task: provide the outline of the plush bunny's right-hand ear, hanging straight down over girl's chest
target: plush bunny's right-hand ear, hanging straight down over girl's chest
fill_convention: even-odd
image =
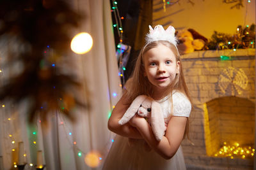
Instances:
[[[162,108],[156,101],[152,101],[151,105],[151,127],[157,141],[161,141],[166,127]]]

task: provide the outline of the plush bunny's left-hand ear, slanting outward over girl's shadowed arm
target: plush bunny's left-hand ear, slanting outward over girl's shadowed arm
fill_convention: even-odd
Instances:
[[[147,96],[140,95],[132,101],[131,106],[125,111],[124,116],[118,121],[118,124],[126,124],[138,111],[140,104],[146,99]]]

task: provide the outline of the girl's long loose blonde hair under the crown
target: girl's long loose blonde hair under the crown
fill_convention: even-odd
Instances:
[[[179,73],[176,75],[173,83],[166,90],[166,96],[169,94],[172,94],[172,90],[179,90],[180,92],[182,92],[188,97],[190,103],[192,104],[191,97],[189,95],[189,90],[186,85],[184,74],[182,71],[182,63],[180,60],[179,51],[177,50],[177,47],[175,45],[173,45],[169,41],[163,41],[163,40],[153,41],[152,43],[148,43],[145,46],[143,46],[143,48],[141,49],[140,54],[138,55],[138,59],[136,60],[136,64],[135,64],[132,76],[131,78],[129,78],[129,80],[127,80],[127,83],[125,84],[125,89],[127,90],[126,95],[129,101],[133,101],[137,96],[142,94],[152,97],[152,92],[153,92],[152,84],[148,81],[147,76],[145,76],[144,74],[145,69],[143,64],[143,55],[148,50],[152,48],[156,48],[159,45],[164,45],[170,48],[170,50],[172,50],[172,52],[175,55],[176,62],[178,61],[180,62]],[[186,135],[188,135],[188,122],[186,125],[186,132],[185,132]]]

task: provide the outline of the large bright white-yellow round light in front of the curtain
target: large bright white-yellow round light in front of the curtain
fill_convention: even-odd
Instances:
[[[78,54],[84,54],[89,52],[92,48],[93,40],[92,36],[87,32],[81,32],[74,36],[70,43],[71,50]]]

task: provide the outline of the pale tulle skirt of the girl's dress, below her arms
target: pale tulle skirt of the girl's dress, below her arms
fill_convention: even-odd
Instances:
[[[128,143],[128,138],[116,135],[108,156],[104,161],[104,170],[184,170],[186,169],[182,148],[179,147],[172,159],[166,160],[158,153],[145,150],[145,142],[138,140]]]

